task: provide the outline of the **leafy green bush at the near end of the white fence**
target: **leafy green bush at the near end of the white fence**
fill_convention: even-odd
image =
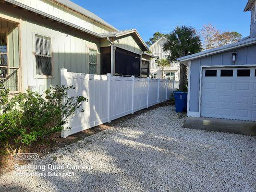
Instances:
[[[50,87],[44,97],[27,90],[11,99],[8,99],[9,91],[0,91],[0,144],[9,153],[15,153],[25,145],[63,130],[68,118],[82,102],[88,101],[84,96],[68,97],[69,89],[75,88]]]

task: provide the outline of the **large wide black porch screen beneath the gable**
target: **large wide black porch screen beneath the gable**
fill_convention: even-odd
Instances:
[[[116,48],[115,61],[116,74],[140,76],[140,55]]]

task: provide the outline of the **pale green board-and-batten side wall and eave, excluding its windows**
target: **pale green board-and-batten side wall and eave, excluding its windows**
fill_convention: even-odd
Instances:
[[[0,17],[19,21],[22,91],[28,85],[39,87],[40,91],[60,84],[61,68],[69,72],[88,73],[88,48],[98,50],[97,73],[100,73],[100,40],[73,30],[62,24],[41,18],[30,12],[1,4]],[[20,16],[21,15],[21,16]],[[35,34],[51,37],[53,77],[39,78],[35,74]]]

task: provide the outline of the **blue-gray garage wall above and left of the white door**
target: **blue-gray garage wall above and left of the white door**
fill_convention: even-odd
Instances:
[[[233,63],[231,55],[237,54],[237,60]],[[200,68],[205,65],[256,65],[256,44],[225,51],[196,60],[191,60],[190,67],[190,103],[189,111],[199,112],[199,88],[200,88]]]

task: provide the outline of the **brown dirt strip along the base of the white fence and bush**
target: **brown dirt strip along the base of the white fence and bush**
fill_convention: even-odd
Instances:
[[[51,152],[54,152],[58,150],[61,147],[64,147],[65,145],[76,143],[79,140],[82,140],[90,135],[96,134],[98,132],[102,132],[106,129],[110,129],[111,127],[118,125],[126,120],[133,119],[135,116],[145,113],[148,110],[152,110],[158,107],[168,106],[171,105],[170,101],[162,102],[157,105],[151,106],[149,108],[145,108],[139,111],[134,112],[134,114],[129,114],[124,117],[121,117],[116,120],[112,120],[110,123],[104,123],[102,125],[98,125],[96,127],[87,129],[82,132],[75,133],[73,135],[68,136],[67,138],[61,138],[61,132],[57,132],[51,135],[49,140],[47,140],[47,143],[35,143],[31,146],[24,148],[24,153],[37,153],[39,157],[45,156]],[[2,150],[3,151],[3,150]],[[2,152],[1,151],[1,152]],[[3,173],[9,172],[13,169],[15,164],[24,165],[28,163],[29,161],[16,161],[13,156],[5,155],[0,153],[0,175]]]

